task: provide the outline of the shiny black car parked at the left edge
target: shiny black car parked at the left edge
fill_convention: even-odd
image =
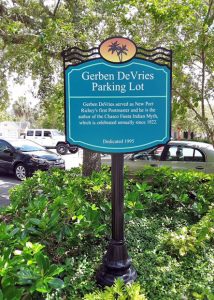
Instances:
[[[0,169],[13,173],[24,180],[37,170],[46,171],[52,167],[65,169],[65,162],[59,154],[28,140],[0,139]]]

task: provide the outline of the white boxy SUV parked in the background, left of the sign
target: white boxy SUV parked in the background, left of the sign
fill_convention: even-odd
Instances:
[[[68,151],[70,153],[78,151],[78,147],[65,142],[65,136],[57,129],[27,129],[25,138],[47,149],[56,149],[61,155],[65,155]]]

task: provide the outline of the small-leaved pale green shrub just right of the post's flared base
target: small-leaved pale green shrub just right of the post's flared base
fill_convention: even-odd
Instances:
[[[170,223],[174,226],[176,222],[181,227],[184,221],[182,216],[172,220],[169,215],[157,218],[157,215],[145,214],[127,225],[129,255],[148,299],[192,300],[195,299],[193,293],[214,293],[212,242],[185,256],[174,255],[165,244],[165,234],[171,232]]]

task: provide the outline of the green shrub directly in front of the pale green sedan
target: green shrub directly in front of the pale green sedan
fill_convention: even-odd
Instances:
[[[172,171],[170,168],[145,168],[138,174],[134,192],[151,207],[185,207],[197,217],[204,215],[213,203],[214,176],[194,171]],[[133,193],[133,191],[132,191]]]

